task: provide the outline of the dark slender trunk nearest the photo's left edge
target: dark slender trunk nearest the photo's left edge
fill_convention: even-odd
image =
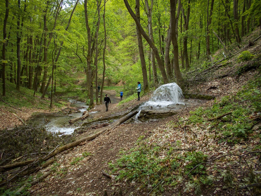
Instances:
[[[9,7],[8,7],[8,0],[5,0],[5,15],[4,15],[4,26],[3,26],[3,49],[2,49],[2,80],[3,80],[3,97],[5,97],[5,64],[6,64],[6,60],[5,60],[5,46],[6,46],[6,37],[7,37],[7,33],[6,33],[6,24],[7,24],[7,19],[8,19],[8,14],[9,14]]]

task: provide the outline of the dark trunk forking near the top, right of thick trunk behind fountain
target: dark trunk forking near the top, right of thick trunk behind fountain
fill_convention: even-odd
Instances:
[[[187,35],[187,30],[188,30],[188,22],[189,22],[189,15],[190,15],[190,0],[188,0],[188,9],[187,9],[187,16],[185,16],[185,11],[182,9],[182,15],[184,18],[184,26],[185,26],[185,35],[183,38],[183,45],[184,45],[184,57],[186,61],[186,70],[189,68],[189,61],[188,61],[188,35]]]

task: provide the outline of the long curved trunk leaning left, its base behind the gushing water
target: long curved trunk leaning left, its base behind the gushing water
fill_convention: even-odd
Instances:
[[[155,44],[153,43],[153,41],[150,39],[150,37],[146,34],[146,32],[144,31],[144,29],[142,28],[142,26],[140,25],[136,15],[134,14],[134,12],[132,11],[129,3],[127,0],[124,0],[124,3],[126,5],[126,8],[128,9],[129,13],[131,14],[132,18],[134,19],[138,29],[140,30],[140,33],[142,34],[142,36],[146,39],[146,41],[148,42],[148,44],[150,45],[151,49],[154,51],[155,53],[155,56],[156,56],[156,59],[157,59],[157,62],[158,62],[158,65],[159,65],[159,69],[161,70],[161,74],[162,74],[162,77],[163,77],[163,82],[164,84],[167,84],[168,83],[168,78],[167,78],[167,74],[165,72],[165,69],[164,69],[164,65],[161,61],[161,57],[159,56],[159,52],[158,52],[158,49],[157,47],[155,46]]]

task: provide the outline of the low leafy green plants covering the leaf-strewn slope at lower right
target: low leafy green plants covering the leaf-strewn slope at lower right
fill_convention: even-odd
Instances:
[[[227,142],[234,145],[242,140],[248,140],[250,136],[253,136],[255,126],[259,126],[260,129],[260,124],[258,124],[261,120],[260,88],[261,76],[258,73],[255,80],[249,81],[236,95],[225,96],[220,101],[215,100],[215,103],[209,108],[199,107],[190,112],[186,121],[180,118],[179,123],[173,121],[169,123],[169,126],[179,129],[179,124],[184,123],[190,126],[200,127],[202,125],[209,130],[213,136],[212,139],[217,140],[217,143]],[[133,96],[133,98],[135,97]],[[232,113],[219,120],[213,119],[228,112]],[[255,137],[260,138],[261,134],[257,134]],[[208,145],[207,136],[204,135],[204,138],[200,140],[204,141],[206,146]],[[180,148],[181,142],[176,140],[175,145]],[[175,154],[175,145],[170,143],[158,145],[151,143],[149,139],[140,137],[134,148],[120,152],[117,163],[109,163],[109,165],[112,173],[119,171],[120,175],[117,176],[117,180],[123,179],[131,184],[139,185],[139,189],[145,192],[153,189],[151,195],[159,195],[167,187],[176,187],[186,175],[188,175],[188,182],[184,187],[184,192],[194,189],[196,195],[201,194],[200,186],[211,186],[215,181],[215,176],[206,171],[208,166],[200,164],[206,162],[209,157],[203,152],[195,150]],[[253,147],[252,151],[254,150],[260,151],[260,143]],[[215,165],[215,163],[213,164]],[[229,170],[216,170],[228,187],[233,188],[236,185]],[[251,176],[249,167],[245,171],[246,177],[242,179],[245,184],[249,184],[251,181],[247,175]],[[259,181],[260,177],[256,177],[255,182]],[[260,190],[257,189],[257,193],[259,192]]]

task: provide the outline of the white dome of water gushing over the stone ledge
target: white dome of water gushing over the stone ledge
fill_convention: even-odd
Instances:
[[[143,105],[139,107],[139,112],[135,116],[138,118],[140,115],[140,111],[143,107],[151,106],[153,108],[162,108],[167,107],[170,104],[180,103],[180,98],[182,97],[181,88],[174,82],[169,84],[164,84],[157,88],[152,94],[149,101],[145,102]]]

